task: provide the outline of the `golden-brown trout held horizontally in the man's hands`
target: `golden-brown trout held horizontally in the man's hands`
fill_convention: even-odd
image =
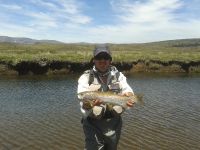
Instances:
[[[142,94],[134,94],[132,96],[124,96],[122,94],[116,94],[114,92],[100,92],[100,91],[86,91],[78,93],[78,98],[80,101],[85,102],[88,107],[93,107],[94,100],[101,100],[103,104],[108,105],[118,105],[126,109],[127,101],[131,100],[133,103],[144,104]],[[85,104],[84,103],[84,104]]]

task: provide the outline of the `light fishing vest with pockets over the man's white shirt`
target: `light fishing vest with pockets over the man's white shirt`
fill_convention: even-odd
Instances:
[[[115,93],[120,93],[121,92],[121,86],[119,83],[119,76],[120,76],[120,72],[116,69],[116,67],[111,66],[110,67],[110,73],[108,75],[108,78],[110,78],[110,80],[108,81],[107,85],[102,84],[100,81],[100,77],[99,75],[93,70],[87,70],[85,72],[88,75],[88,84],[89,86],[96,86],[98,87],[98,91],[113,91]]]

